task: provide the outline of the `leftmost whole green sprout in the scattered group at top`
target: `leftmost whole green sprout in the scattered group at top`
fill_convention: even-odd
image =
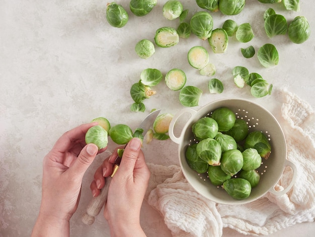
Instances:
[[[128,13],[121,5],[116,3],[107,5],[106,20],[111,26],[121,28],[127,24],[128,19]]]

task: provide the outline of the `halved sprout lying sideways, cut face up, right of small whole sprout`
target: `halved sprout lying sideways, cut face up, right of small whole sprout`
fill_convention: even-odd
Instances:
[[[168,48],[178,44],[179,35],[177,31],[172,27],[161,27],[156,30],[154,41],[157,46]]]

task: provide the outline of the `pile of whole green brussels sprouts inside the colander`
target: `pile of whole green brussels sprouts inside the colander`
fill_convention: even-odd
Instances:
[[[268,159],[271,153],[266,135],[249,132],[248,124],[228,107],[214,109],[191,129],[197,143],[186,149],[188,165],[198,173],[207,172],[210,182],[234,199],[248,198],[260,181],[262,157]]]

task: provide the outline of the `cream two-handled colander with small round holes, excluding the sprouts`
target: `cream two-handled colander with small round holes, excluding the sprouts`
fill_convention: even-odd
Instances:
[[[185,152],[187,147],[190,144],[196,143],[191,126],[201,117],[209,116],[214,109],[219,107],[230,108],[235,112],[237,118],[241,118],[247,122],[250,132],[261,131],[266,134],[270,141],[271,154],[267,160],[263,158],[263,164],[258,168],[259,173],[261,174],[260,182],[257,187],[252,189],[250,197],[244,200],[233,199],[221,187],[212,185],[207,177],[207,173],[198,174],[189,167],[186,161]],[[190,118],[184,125],[179,137],[177,137],[174,134],[175,124],[179,118],[186,113],[190,114]],[[179,144],[179,162],[187,181],[199,194],[216,203],[245,204],[264,196],[267,192],[283,195],[292,188],[296,179],[297,170],[295,165],[286,159],[286,141],[278,121],[268,110],[249,100],[216,100],[203,106],[197,111],[191,108],[184,108],[174,115],[170,124],[169,135],[173,142]],[[276,191],[274,187],[280,180],[286,166],[292,168],[292,180],[284,190]]]

